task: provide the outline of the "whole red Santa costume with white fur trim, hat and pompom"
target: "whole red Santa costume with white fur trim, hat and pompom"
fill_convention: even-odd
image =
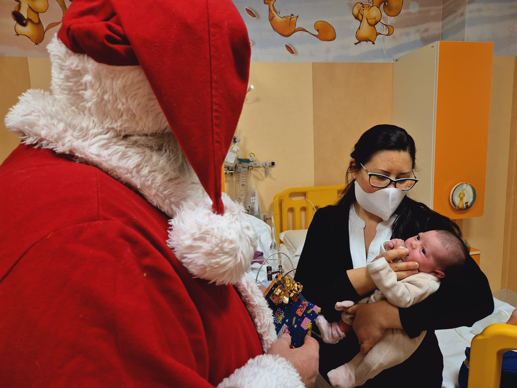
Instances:
[[[250,43],[229,0],[74,0],[0,167],[0,385],[303,386],[264,354],[255,234],[221,196]],[[244,303],[243,303],[244,301]]]

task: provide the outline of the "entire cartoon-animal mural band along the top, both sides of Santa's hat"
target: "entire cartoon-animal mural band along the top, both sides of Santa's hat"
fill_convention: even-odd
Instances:
[[[517,0],[233,0],[253,62],[392,62],[437,40],[517,55]],[[0,55],[48,56],[69,0],[0,1]]]

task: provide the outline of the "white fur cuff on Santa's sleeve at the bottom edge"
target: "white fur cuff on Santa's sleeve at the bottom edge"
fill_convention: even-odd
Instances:
[[[217,388],[304,388],[293,365],[279,355],[261,354],[225,378]]]

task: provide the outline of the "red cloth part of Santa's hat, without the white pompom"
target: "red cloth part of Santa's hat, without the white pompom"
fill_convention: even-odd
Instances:
[[[212,208],[248,87],[250,42],[229,0],[74,0],[57,37],[96,62],[140,65]]]

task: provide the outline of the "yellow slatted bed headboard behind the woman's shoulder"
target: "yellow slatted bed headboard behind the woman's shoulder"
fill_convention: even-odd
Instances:
[[[273,199],[273,217],[278,241],[281,232],[301,229],[302,220],[308,229],[314,215],[312,205],[318,209],[336,203],[342,191],[343,186],[314,186],[293,187],[277,194]]]

